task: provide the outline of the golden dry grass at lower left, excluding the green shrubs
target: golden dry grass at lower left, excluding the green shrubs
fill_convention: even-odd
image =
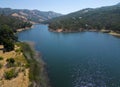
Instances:
[[[2,68],[0,69],[0,87],[28,87],[29,86],[29,69],[25,68],[25,64],[27,63],[24,55],[19,50],[20,47],[15,46],[15,50],[11,52],[3,53],[0,50],[0,56],[3,57],[3,60],[0,60],[0,64],[2,64]],[[17,51],[16,51],[17,50]],[[14,58],[15,62],[20,62],[21,66],[15,66],[16,70],[20,68],[24,68],[24,70],[19,70],[18,76],[16,78],[12,78],[11,80],[6,80],[4,78],[5,71],[9,70],[10,68],[6,67],[6,59]]]

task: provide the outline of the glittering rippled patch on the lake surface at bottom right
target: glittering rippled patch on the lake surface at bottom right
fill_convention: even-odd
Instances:
[[[95,59],[74,65],[72,70],[73,87],[108,87],[105,66]]]

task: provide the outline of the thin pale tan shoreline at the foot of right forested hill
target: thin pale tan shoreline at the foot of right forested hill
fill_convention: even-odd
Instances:
[[[97,30],[97,29],[91,29],[91,30],[83,30],[83,29],[79,29],[79,30],[63,30],[63,29],[49,29],[50,32],[56,32],[56,33],[74,33],[74,32],[101,32],[101,33],[107,33],[110,34],[112,36],[117,36],[120,37],[120,33],[117,33],[113,30]]]

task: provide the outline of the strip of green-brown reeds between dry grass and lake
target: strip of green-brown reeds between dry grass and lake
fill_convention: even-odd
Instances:
[[[22,44],[23,54],[30,65],[29,87],[51,87],[48,78],[47,67],[42,60],[41,55],[34,48],[34,42],[20,42]]]

